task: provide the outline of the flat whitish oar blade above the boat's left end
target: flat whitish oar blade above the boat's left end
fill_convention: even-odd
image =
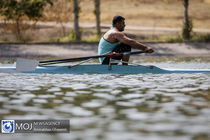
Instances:
[[[17,58],[16,71],[17,72],[34,71],[38,65],[39,61]]]

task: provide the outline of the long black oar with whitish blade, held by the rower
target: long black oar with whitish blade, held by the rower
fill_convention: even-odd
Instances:
[[[28,60],[23,58],[18,58],[16,62],[16,70],[21,71],[34,71],[37,66],[43,65],[51,65],[51,64],[59,64],[59,63],[67,63],[67,62],[76,62],[87,60],[90,58],[96,59],[100,57],[116,57],[116,56],[123,56],[123,55],[133,55],[133,54],[140,54],[145,53],[145,51],[134,51],[134,52],[124,52],[124,53],[109,53],[105,55],[96,55],[96,56],[87,56],[87,57],[78,57],[78,58],[69,58],[69,59],[56,59],[56,60],[46,60],[46,61],[36,61],[36,60]]]

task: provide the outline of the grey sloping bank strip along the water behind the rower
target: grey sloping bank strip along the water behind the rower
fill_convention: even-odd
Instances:
[[[155,52],[141,56],[209,57],[210,43],[144,43]],[[0,58],[73,58],[97,55],[98,43],[0,43]],[[134,51],[134,50],[133,50]]]

